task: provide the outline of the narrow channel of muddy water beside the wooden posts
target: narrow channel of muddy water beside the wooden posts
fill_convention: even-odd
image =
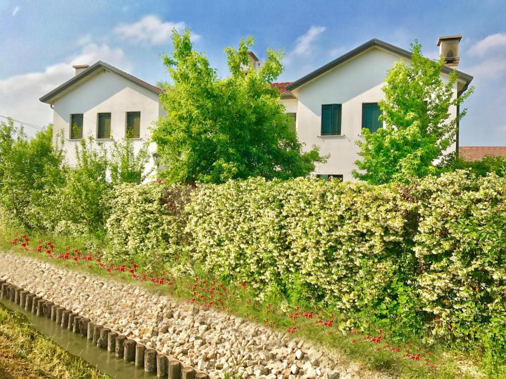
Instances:
[[[0,303],[5,308],[25,316],[40,334],[49,337],[70,354],[78,356],[91,365],[96,366],[100,372],[116,379],[153,379],[157,377],[156,374],[148,373],[143,368],[136,367],[134,362],[126,362],[106,349],[97,348],[91,340],[79,334],[74,334],[66,328],[62,328],[51,319],[27,312],[19,305],[5,299],[0,300]]]

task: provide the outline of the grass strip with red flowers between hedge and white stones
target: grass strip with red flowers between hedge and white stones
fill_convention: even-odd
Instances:
[[[0,248],[4,250],[13,250],[11,241],[14,233],[6,230],[0,230]],[[71,246],[86,254],[86,248],[89,246],[89,240],[76,239],[69,237],[55,237],[47,235],[31,235],[32,241],[51,240],[56,246],[55,251],[64,246]],[[34,244],[37,245],[38,243]],[[95,244],[98,246],[100,244]],[[16,249],[19,251],[19,249]],[[23,252],[21,250],[21,252]],[[219,287],[218,279],[202,273],[198,278],[193,276],[178,276],[177,278],[165,277],[163,285],[159,285],[158,278],[161,277],[163,267],[159,267],[159,272],[152,272],[147,275],[146,280],[134,279],[132,275],[125,275],[126,272],[120,272],[112,269],[108,272],[105,267],[100,267],[95,261],[92,262],[74,262],[64,259],[49,259],[47,254],[36,253],[33,250],[25,251],[24,254],[36,256],[39,259],[46,259],[54,264],[65,266],[69,269],[83,270],[96,275],[108,276],[115,280],[123,282],[135,282],[145,289],[162,294],[171,295],[180,301],[206,303],[212,299],[213,308],[220,309],[223,312],[230,312],[237,316],[265,324],[275,330],[284,333],[291,333],[293,338],[305,341],[311,341],[314,345],[320,346],[333,352],[333,356],[340,357],[340,363],[344,366],[350,362],[359,362],[363,367],[389,373],[399,379],[452,379],[452,378],[476,378],[483,377],[477,369],[477,362],[473,362],[470,356],[463,355],[457,351],[445,348],[444,346],[425,347],[419,339],[413,337],[411,344],[396,343],[388,331],[376,330],[374,334],[366,333],[344,333],[336,325],[330,326],[322,324],[323,320],[330,317],[329,310],[307,309],[304,315],[304,308],[296,310],[293,306],[285,309],[286,299],[273,297],[259,301],[256,299],[254,291],[246,288],[241,283],[228,283],[226,286]],[[90,265],[88,263],[91,263]],[[119,267],[121,262],[115,262],[112,267]],[[117,268],[116,267],[116,268]],[[128,269],[131,267],[127,265]],[[143,272],[142,262],[136,268],[136,274]],[[154,276],[153,275],[159,275]],[[149,280],[149,279],[152,280]],[[156,282],[156,283],[155,283]],[[167,285],[167,283],[170,283]],[[197,287],[195,287],[197,285]],[[212,290],[216,288],[216,290]],[[211,296],[214,296],[214,299]],[[200,301],[199,296],[205,301]],[[219,296],[219,299],[217,299]],[[219,300],[219,301],[218,301]],[[282,305],[284,304],[284,305]],[[283,308],[283,310],[281,309]],[[298,317],[294,317],[294,312],[299,312]],[[311,317],[310,317],[311,315]],[[343,316],[344,317],[344,316]],[[321,322],[316,322],[317,319]],[[332,318],[333,314],[332,314]],[[339,319],[336,316],[335,319]],[[337,322],[336,322],[337,323]],[[296,327],[295,331],[290,328]],[[371,332],[369,332],[371,333]],[[381,341],[373,340],[381,336]],[[337,354],[335,354],[337,353]],[[415,354],[420,355],[420,360],[413,359]],[[471,363],[470,363],[471,362]],[[465,369],[463,369],[465,367]]]

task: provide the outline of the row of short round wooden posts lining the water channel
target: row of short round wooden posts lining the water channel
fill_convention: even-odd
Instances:
[[[98,348],[113,352],[116,357],[125,361],[135,362],[138,367],[144,367],[145,371],[153,372],[158,377],[168,379],[203,379],[207,378],[204,372],[196,372],[194,368],[182,362],[146,348],[134,340],[126,339],[108,327],[93,323],[89,318],[61,307],[41,296],[19,288],[6,280],[0,280],[2,289],[0,299],[7,299],[20,305],[28,312],[37,316],[47,317],[67,328],[73,333],[93,340]]]

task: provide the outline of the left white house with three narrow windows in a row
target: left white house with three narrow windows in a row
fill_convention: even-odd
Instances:
[[[113,139],[130,135],[138,152],[152,122],[165,114],[159,104],[162,90],[102,61],[73,67],[74,77],[39,99],[54,110],[53,138],[63,130],[68,162],[75,163],[75,145],[89,135],[106,149]],[[156,152],[154,144],[149,150]],[[150,159],[146,170],[154,164]]]

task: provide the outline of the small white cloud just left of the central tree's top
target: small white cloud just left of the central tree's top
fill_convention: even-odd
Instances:
[[[114,28],[114,33],[124,40],[160,45],[170,42],[173,29],[182,32],[185,27],[186,24],[184,22],[162,22],[158,16],[148,15],[134,24],[121,24],[116,26]],[[199,38],[200,35],[192,33],[192,41],[196,41]]]

